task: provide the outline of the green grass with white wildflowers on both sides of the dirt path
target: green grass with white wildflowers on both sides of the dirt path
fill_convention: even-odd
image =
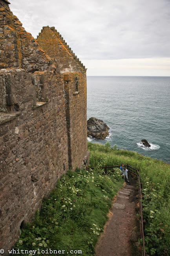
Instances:
[[[143,192],[146,253],[170,255],[170,165],[137,152],[88,143],[90,167],[125,165],[139,169]],[[104,175],[101,169],[68,171],[44,198],[33,223],[22,229],[15,248],[24,250],[82,250],[94,248],[107,220],[112,198],[122,187],[119,168]],[[20,254],[25,255],[25,254]],[[41,255],[41,254],[38,254]],[[50,254],[53,255],[53,254]],[[64,255],[64,254],[62,254]],[[66,254],[72,255],[72,254]]]

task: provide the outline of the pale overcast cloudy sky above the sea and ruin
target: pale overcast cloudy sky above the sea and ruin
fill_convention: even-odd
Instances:
[[[170,0],[9,0],[37,38],[55,26],[88,76],[170,76]]]

